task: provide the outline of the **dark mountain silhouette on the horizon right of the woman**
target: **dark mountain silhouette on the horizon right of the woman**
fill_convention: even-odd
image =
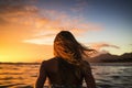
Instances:
[[[132,63],[132,53],[124,53],[122,55],[112,55],[110,53],[100,54],[96,57],[87,59],[90,63]]]

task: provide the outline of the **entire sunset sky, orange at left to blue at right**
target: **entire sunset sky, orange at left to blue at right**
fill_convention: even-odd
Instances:
[[[0,0],[0,62],[53,57],[53,41],[62,30],[100,53],[130,53],[132,1]]]

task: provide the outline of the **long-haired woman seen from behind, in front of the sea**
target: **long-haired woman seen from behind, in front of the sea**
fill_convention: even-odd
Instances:
[[[91,68],[82,59],[91,51],[79,44],[70,32],[59,32],[54,40],[55,57],[42,63],[35,87],[43,88],[47,77],[52,88],[82,88],[84,79],[88,88],[96,88]]]

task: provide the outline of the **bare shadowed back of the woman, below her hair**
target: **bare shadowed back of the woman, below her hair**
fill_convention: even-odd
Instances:
[[[77,66],[74,66],[63,58],[52,58],[42,63],[43,70],[45,70],[51,85],[81,85],[82,73],[80,77],[76,77],[75,70]]]

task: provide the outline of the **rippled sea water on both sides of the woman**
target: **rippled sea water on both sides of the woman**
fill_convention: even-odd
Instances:
[[[0,64],[0,88],[33,88],[38,67]],[[91,67],[97,88],[132,88],[132,63],[92,64]]]

